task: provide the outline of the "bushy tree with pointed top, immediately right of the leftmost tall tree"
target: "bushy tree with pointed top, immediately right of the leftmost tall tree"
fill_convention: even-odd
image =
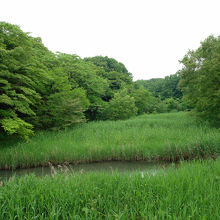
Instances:
[[[38,127],[60,129],[85,121],[84,112],[89,106],[86,91],[83,88],[72,89],[62,67],[54,67],[50,76],[48,94],[36,110]]]

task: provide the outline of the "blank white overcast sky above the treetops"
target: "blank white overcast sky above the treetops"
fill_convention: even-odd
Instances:
[[[53,52],[108,56],[134,80],[163,78],[209,35],[219,0],[0,0],[0,21],[41,37]]]

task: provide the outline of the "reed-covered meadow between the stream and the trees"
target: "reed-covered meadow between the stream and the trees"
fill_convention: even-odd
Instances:
[[[220,132],[186,113],[143,115],[1,143],[0,169],[103,160],[192,159],[220,153]]]

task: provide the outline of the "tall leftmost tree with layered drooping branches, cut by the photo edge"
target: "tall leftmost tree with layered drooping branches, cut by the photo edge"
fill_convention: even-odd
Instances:
[[[0,125],[24,138],[33,133],[26,118],[35,115],[44,72],[34,60],[32,42],[18,26],[0,22]]]

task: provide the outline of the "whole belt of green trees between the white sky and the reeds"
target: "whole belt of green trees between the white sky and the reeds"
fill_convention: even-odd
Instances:
[[[0,133],[28,138],[91,120],[191,110],[220,124],[220,37],[189,51],[164,79],[132,79],[113,58],[53,53],[40,38],[0,22]]]

